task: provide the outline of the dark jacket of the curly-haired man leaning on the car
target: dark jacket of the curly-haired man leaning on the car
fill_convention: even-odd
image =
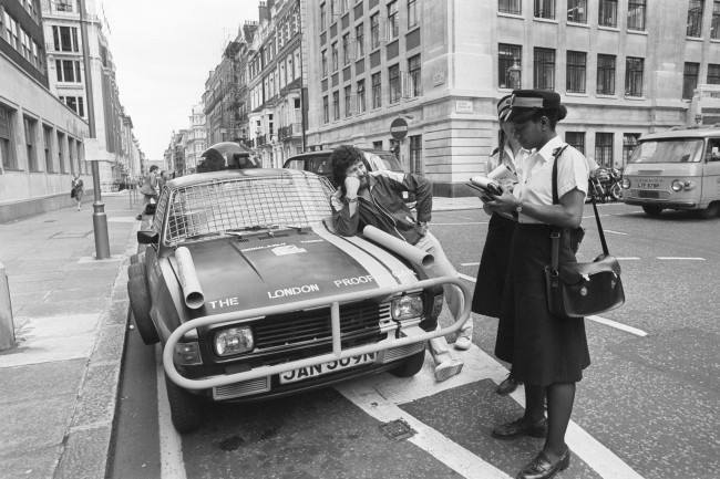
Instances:
[[[350,216],[348,201],[340,197],[340,190],[332,198],[332,223],[342,236],[362,232],[372,225],[390,235],[415,244],[422,237],[419,222],[430,221],[432,212],[432,186],[429,180],[411,174],[383,171],[369,177],[370,200],[358,197],[358,209]],[[402,192],[415,195],[416,217],[403,201]]]

